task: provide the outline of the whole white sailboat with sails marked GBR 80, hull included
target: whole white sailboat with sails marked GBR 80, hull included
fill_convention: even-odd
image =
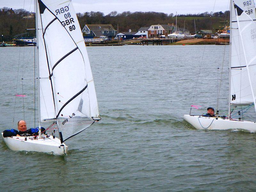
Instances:
[[[15,151],[64,155],[64,141],[101,119],[92,71],[71,0],[36,0],[35,7],[39,136],[4,142]],[[60,139],[42,136],[41,122],[55,122]]]

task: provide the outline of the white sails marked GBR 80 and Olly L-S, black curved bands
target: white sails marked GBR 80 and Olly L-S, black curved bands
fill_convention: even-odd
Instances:
[[[44,9],[39,10],[42,25],[39,34],[42,39],[40,76],[50,77],[40,79],[40,102],[46,101],[41,110],[41,121],[56,119],[63,142],[94,123],[92,117],[99,117],[98,102],[89,58],[85,44],[81,43],[84,40],[71,1],[38,2],[40,9]]]

